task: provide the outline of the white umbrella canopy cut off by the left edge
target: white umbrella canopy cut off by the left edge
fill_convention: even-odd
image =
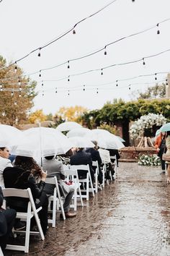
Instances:
[[[17,142],[22,131],[7,124],[0,124],[0,147],[12,146]]]

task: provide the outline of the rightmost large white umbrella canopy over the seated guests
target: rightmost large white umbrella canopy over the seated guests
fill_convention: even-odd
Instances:
[[[100,148],[117,149],[124,148],[120,139],[116,135],[104,129],[92,129],[90,135],[86,135],[90,140],[96,140]]]

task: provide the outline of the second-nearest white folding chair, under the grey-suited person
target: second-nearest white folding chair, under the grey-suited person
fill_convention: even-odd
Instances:
[[[64,213],[64,209],[63,209],[63,200],[62,200],[62,197],[61,197],[60,189],[58,187],[58,180],[57,180],[56,176],[51,177],[51,178],[47,177],[45,179],[45,183],[55,185],[53,195],[50,195],[50,197],[48,197],[48,202],[49,202],[48,203],[48,211],[49,212],[51,212],[50,205],[51,205],[51,202],[53,202],[52,219],[48,218],[48,223],[52,223],[53,228],[55,228],[56,211],[59,210],[59,206],[61,208],[61,213],[63,215],[63,220],[66,220],[66,216],[65,216],[65,213]]]

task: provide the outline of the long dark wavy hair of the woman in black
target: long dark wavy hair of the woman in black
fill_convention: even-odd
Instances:
[[[42,170],[34,158],[17,155],[14,166],[22,167],[25,171],[30,171],[34,176],[41,176]]]

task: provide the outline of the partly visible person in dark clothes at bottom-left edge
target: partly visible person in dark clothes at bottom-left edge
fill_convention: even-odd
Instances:
[[[1,208],[3,203],[3,194],[0,187],[0,246],[4,250],[9,240],[10,234],[12,234],[12,228],[16,218],[16,210]]]

